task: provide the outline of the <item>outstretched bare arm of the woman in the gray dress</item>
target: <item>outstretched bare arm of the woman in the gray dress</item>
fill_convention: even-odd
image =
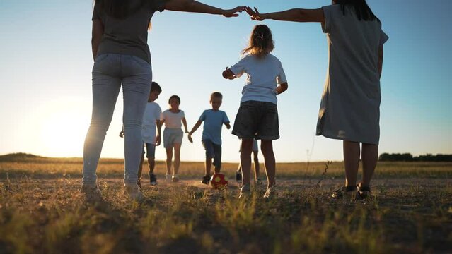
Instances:
[[[323,16],[323,11],[321,8],[318,9],[302,9],[293,8],[286,11],[279,11],[273,13],[259,13],[257,8],[254,10],[250,7],[246,7],[245,11],[250,15],[252,20],[282,20],[282,21],[294,21],[294,22],[325,22],[325,17]]]

